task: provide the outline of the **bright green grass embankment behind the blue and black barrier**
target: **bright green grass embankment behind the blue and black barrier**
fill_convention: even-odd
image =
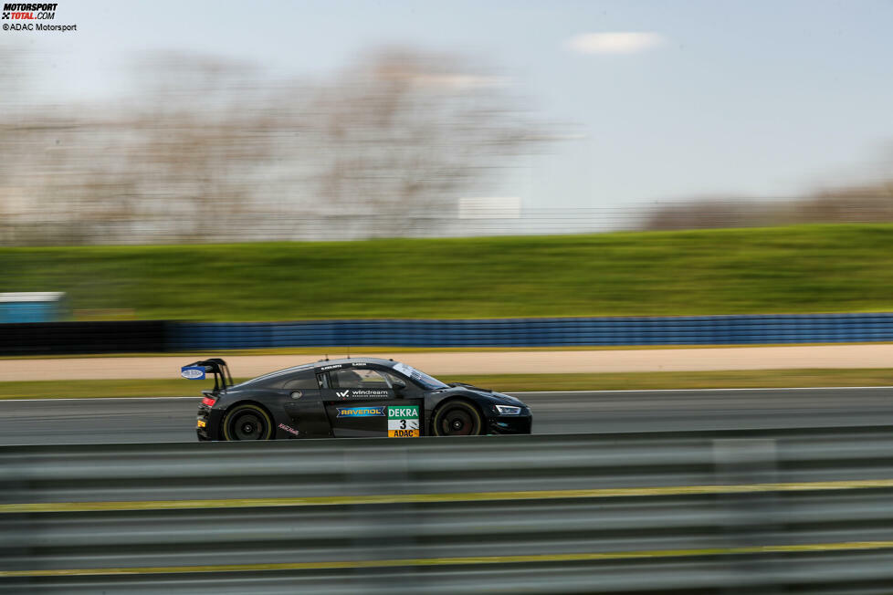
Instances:
[[[893,310],[891,287],[891,224],[0,248],[0,291],[66,291],[100,318],[867,312]]]

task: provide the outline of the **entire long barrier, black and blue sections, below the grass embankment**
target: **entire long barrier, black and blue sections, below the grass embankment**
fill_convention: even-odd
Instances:
[[[0,325],[0,355],[278,347],[549,347],[893,341],[893,313]]]

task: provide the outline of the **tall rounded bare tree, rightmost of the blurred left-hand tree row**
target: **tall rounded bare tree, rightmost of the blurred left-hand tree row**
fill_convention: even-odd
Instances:
[[[302,107],[300,179],[355,235],[413,235],[453,218],[461,193],[542,139],[505,86],[457,57],[374,52]]]

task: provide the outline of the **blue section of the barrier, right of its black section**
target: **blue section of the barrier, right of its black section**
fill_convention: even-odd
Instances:
[[[277,347],[549,347],[893,341],[893,313],[472,320],[182,322],[170,350]]]

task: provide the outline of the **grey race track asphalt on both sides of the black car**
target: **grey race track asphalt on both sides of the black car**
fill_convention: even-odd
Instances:
[[[893,423],[893,387],[516,392],[534,433]],[[0,401],[0,444],[194,442],[199,399]]]

